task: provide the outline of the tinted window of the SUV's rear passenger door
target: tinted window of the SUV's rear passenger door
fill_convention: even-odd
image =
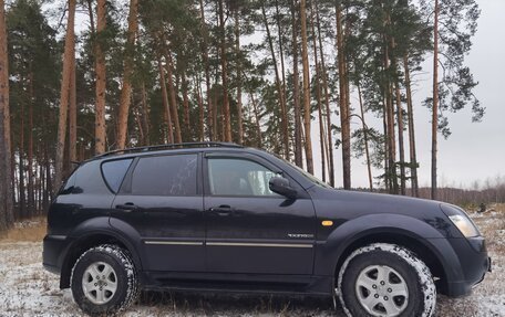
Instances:
[[[195,196],[197,156],[144,157],[133,171],[132,194]]]

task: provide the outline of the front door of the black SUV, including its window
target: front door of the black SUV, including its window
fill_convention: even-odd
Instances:
[[[269,190],[282,173],[255,155],[214,152],[204,159],[207,271],[312,274],[315,210],[289,176],[298,199]]]

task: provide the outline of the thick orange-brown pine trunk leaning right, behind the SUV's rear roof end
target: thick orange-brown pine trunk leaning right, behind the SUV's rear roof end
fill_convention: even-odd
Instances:
[[[138,31],[138,0],[130,0],[128,33],[123,68],[123,87],[121,89],[120,109],[117,114],[116,148],[124,149],[126,146],[126,134],[128,127],[130,104],[132,101],[132,73],[133,53],[135,50],[135,38]]]

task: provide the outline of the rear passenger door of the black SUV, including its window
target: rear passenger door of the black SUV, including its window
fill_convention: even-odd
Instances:
[[[111,223],[140,235],[146,271],[205,272],[199,155],[143,156],[116,196]]]

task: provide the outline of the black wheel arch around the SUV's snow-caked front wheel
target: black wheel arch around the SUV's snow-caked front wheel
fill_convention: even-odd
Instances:
[[[450,292],[450,284],[463,278],[461,263],[449,240],[420,219],[393,213],[368,214],[342,223],[318,247],[320,275],[333,275],[358,247],[371,243],[393,243],[414,252],[426,263],[439,293]]]

